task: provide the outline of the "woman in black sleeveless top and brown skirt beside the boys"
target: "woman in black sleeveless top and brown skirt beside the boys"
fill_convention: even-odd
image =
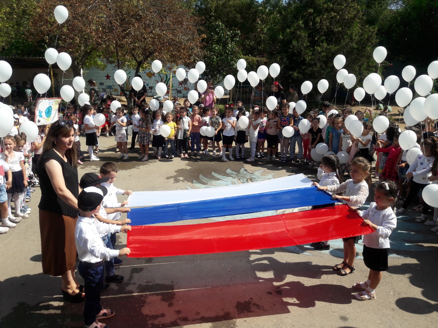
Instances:
[[[80,302],[83,287],[74,278],[79,195],[75,136],[70,122],[59,120],[50,126],[38,161],[38,207],[42,273],[62,276],[64,300]]]

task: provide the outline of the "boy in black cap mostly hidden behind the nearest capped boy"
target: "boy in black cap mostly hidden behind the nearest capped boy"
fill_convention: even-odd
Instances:
[[[102,182],[107,182],[109,180],[109,177],[102,177],[100,178],[99,175],[95,173],[85,173],[82,175],[81,181],[79,182],[79,185],[82,189],[85,189],[87,187],[99,187]],[[124,220],[109,220],[107,214],[113,214],[113,213],[127,213],[130,212],[131,209],[128,207],[114,207],[114,208],[104,208],[103,206],[100,206],[100,211],[98,214],[95,214],[95,217],[98,221],[102,223],[108,223],[108,224],[117,224],[119,226],[124,226],[127,223],[131,223],[130,219],[124,219]],[[100,237],[102,238],[103,244],[105,244],[106,247],[109,249],[116,249],[113,247],[113,243],[111,242],[111,234],[100,234]],[[114,269],[114,258],[111,258],[109,261],[105,261],[104,263],[105,267],[105,276],[106,276],[106,283],[103,285],[102,291],[107,290],[109,288],[109,282],[111,283],[121,283],[124,280],[124,276],[116,275],[115,269]]]

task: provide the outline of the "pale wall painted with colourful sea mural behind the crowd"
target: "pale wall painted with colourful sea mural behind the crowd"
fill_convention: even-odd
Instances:
[[[186,71],[186,67],[181,66]],[[97,82],[99,91],[107,92],[113,96],[121,96],[123,93],[120,91],[119,85],[114,80],[114,72],[117,67],[114,65],[107,65],[106,70],[89,70],[84,73],[84,80],[94,79]],[[124,89],[129,92],[131,90],[131,80],[134,77],[135,70],[126,70],[127,80],[123,84]],[[167,85],[166,96],[169,97],[170,91],[170,72],[168,73],[154,73],[152,70],[140,71],[141,79],[145,82],[145,86],[148,89],[148,97],[155,96],[155,85],[162,82]],[[190,90],[194,89],[194,84],[189,83],[187,77],[180,81],[177,79],[175,74],[172,74],[172,97],[177,96],[178,98],[186,98]],[[88,86],[86,87],[88,90]],[[228,94],[226,92],[226,94]]]

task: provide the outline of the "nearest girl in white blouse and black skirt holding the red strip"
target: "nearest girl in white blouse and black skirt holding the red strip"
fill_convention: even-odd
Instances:
[[[382,279],[382,271],[388,270],[389,235],[397,226],[397,217],[391,206],[396,202],[397,187],[392,182],[381,182],[374,190],[374,201],[364,211],[358,211],[364,224],[374,232],[364,236],[364,264],[370,269],[364,283],[355,283],[352,287],[361,292],[354,295],[358,300],[374,300],[375,289]],[[351,209],[356,210],[356,207]]]

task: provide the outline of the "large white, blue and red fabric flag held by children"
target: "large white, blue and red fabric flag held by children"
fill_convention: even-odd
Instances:
[[[134,192],[128,199],[130,257],[208,254],[307,244],[373,232],[347,205],[318,191],[304,174],[218,188]],[[244,220],[176,226],[153,223],[323,205]]]

